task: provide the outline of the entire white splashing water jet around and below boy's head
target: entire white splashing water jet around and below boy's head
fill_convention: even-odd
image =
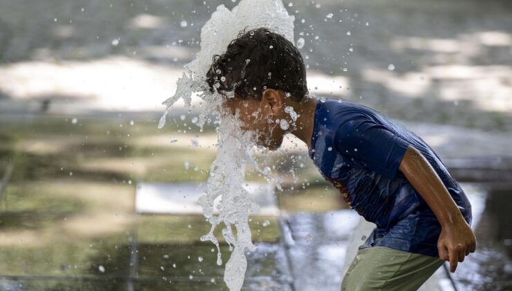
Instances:
[[[202,99],[201,112],[194,123],[201,127],[201,131],[205,122],[212,122],[211,116],[217,116],[214,118],[219,123],[217,157],[210,166],[206,191],[199,199],[203,214],[212,227],[201,240],[210,240],[217,246],[217,264],[221,265],[219,240],[214,236],[214,229],[221,222],[225,225],[222,236],[232,253],[226,263],[224,281],[230,290],[241,289],[247,267],[245,252],[253,252],[256,248],[251,239],[248,220],[249,215],[257,213],[259,207],[243,188],[245,166],[254,166],[268,182],[273,182],[273,179],[269,177],[270,170],[259,169],[254,159],[254,136],[239,130],[237,116],[219,111],[223,98],[217,92],[210,93],[205,82],[206,73],[210,69],[212,56],[225,53],[228,44],[244,28],[250,30],[265,27],[293,43],[294,20],[295,17],[288,14],[282,0],[242,0],[232,10],[223,5],[217,6],[210,20],[201,28],[201,50],[192,62],[185,64],[185,71],[176,83],[176,93],[164,101],[166,110],[158,122],[158,128],[162,128],[167,114],[180,98],[185,107],[190,109],[193,94]],[[280,188],[279,184],[277,187]],[[214,205],[217,197],[221,197],[221,200]],[[219,211],[218,215],[214,215],[215,210]],[[236,229],[236,236],[232,226]]]

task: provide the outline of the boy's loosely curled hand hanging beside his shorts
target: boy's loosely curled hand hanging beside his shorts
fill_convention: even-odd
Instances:
[[[475,252],[476,247],[475,234],[464,220],[444,226],[437,240],[439,258],[450,261],[452,273],[457,268],[457,261],[464,261],[464,257]]]

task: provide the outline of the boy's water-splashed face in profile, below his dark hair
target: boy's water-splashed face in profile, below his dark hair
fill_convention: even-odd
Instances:
[[[262,100],[230,98],[223,102],[222,106],[228,109],[228,112],[238,114],[241,121],[241,130],[255,132],[257,145],[262,145],[270,150],[276,150],[282,144],[284,130],[281,129],[276,119],[282,114],[282,98],[277,91],[270,98],[279,98],[268,100],[265,96]]]

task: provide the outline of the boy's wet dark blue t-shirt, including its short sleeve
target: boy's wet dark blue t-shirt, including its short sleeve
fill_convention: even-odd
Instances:
[[[341,100],[318,101],[309,155],[322,176],[376,229],[376,245],[438,256],[441,225],[399,171],[408,145],[426,157],[471,223],[471,205],[437,154],[419,136],[376,110]]]

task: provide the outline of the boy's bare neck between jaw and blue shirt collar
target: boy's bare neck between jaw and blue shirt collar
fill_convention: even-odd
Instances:
[[[294,107],[295,112],[299,115],[295,125],[297,129],[293,130],[291,134],[295,135],[301,141],[304,141],[308,148],[310,148],[311,136],[313,135],[313,125],[315,121],[315,109],[318,101],[311,97],[306,97],[304,100],[297,103]]]

